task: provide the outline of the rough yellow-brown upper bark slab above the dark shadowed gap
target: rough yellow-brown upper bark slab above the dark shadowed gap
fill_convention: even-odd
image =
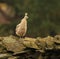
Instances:
[[[25,48],[33,48],[44,52],[45,50],[59,50],[60,40],[56,37],[45,37],[45,38],[21,38],[17,39],[14,36],[4,37],[2,40],[3,46],[8,51],[20,52]]]

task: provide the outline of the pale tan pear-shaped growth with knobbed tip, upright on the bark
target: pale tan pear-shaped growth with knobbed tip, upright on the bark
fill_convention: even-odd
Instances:
[[[21,22],[16,26],[16,35],[20,37],[24,37],[27,31],[27,19],[28,19],[28,13],[25,13],[24,18],[21,20]]]

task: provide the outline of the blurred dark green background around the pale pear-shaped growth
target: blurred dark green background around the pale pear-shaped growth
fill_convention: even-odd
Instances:
[[[45,37],[60,34],[60,0],[0,0],[11,5],[15,17],[10,24],[0,24],[0,36],[15,35],[15,27],[27,12],[28,31],[26,36]]]

